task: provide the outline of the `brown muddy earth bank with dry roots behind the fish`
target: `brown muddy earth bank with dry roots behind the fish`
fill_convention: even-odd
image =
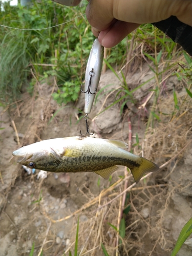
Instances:
[[[144,65],[142,70],[129,74],[126,80],[132,90],[151,77],[152,71]],[[12,152],[20,146],[39,140],[77,136],[80,129],[82,133],[85,131],[84,120],[78,121],[82,116],[79,110],[83,111],[84,95],[80,94],[75,104],[59,106],[51,97],[53,84],[54,81],[37,83],[32,96],[24,88],[22,99],[9,109],[1,108],[1,127],[5,129],[0,130],[0,256],[29,255],[33,244],[34,256],[40,255],[41,251],[45,256],[60,256],[65,252],[69,255],[69,250],[73,254],[78,216],[80,255],[103,255],[101,243],[109,255],[115,255],[117,232],[108,223],[118,226],[122,200],[119,197],[105,204],[133,184],[133,178],[130,177],[127,183],[122,178],[119,186],[100,198],[98,196],[103,189],[109,189],[121,179],[124,167],[120,166],[110,181],[91,172],[48,173],[47,178],[37,179],[39,170],[28,175],[12,157]],[[111,86],[104,89],[90,114],[89,124],[94,136],[128,142],[130,118],[132,145],[136,143],[136,134],[140,145],[132,146],[134,153],[143,154],[159,165],[170,160],[129,193],[126,204],[131,208],[124,215],[126,231],[118,253],[168,256],[192,213],[192,147],[191,143],[187,145],[192,139],[191,99],[187,97],[180,112],[175,117],[172,115],[173,88],[177,91],[179,104],[186,93],[177,77],[169,76],[163,83],[158,101],[161,121],[156,121],[155,129],[144,137],[154,99],[154,95],[150,99],[148,96],[156,86],[155,79],[134,93],[135,103],[127,102],[122,115],[121,105],[116,104],[95,118],[116,100],[120,87],[118,78],[107,71],[101,76],[99,89],[109,84]],[[66,220],[62,220],[65,217]],[[178,256],[189,256],[191,251],[190,238]]]

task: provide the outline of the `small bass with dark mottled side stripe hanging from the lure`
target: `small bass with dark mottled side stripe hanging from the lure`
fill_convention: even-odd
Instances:
[[[129,167],[136,183],[148,172],[159,169],[155,163],[124,150],[128,145],[119,140],[86,136],[43,140],[23,146],[13,156],[29,168],[54,173],[94,172],[104,179],[118,169]]]

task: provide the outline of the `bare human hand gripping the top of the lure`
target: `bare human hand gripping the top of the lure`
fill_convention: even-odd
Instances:
[[[86,10],[92,32],[106,48],[117,45],[140,24],[172,15],[192,26],[191,0],[90,0]]]

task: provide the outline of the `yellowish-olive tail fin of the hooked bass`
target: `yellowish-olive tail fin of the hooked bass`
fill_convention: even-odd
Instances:
[[[156,170],[159,169],[159,166],[150,160],[141,157],[140,164],[129,168],[132,172],[135,182],[138,183],[145,173],[156,172]]]

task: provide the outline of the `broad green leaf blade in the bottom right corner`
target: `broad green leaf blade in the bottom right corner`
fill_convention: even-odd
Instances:
[[[177,243],[170,256],[176,256],[178,251],[181,249],[181,246],[184,244],[185,240],[190,236],[191,233],[192,233],[192,218],[190,218],[190,220],[182,228],[179,234]]]

